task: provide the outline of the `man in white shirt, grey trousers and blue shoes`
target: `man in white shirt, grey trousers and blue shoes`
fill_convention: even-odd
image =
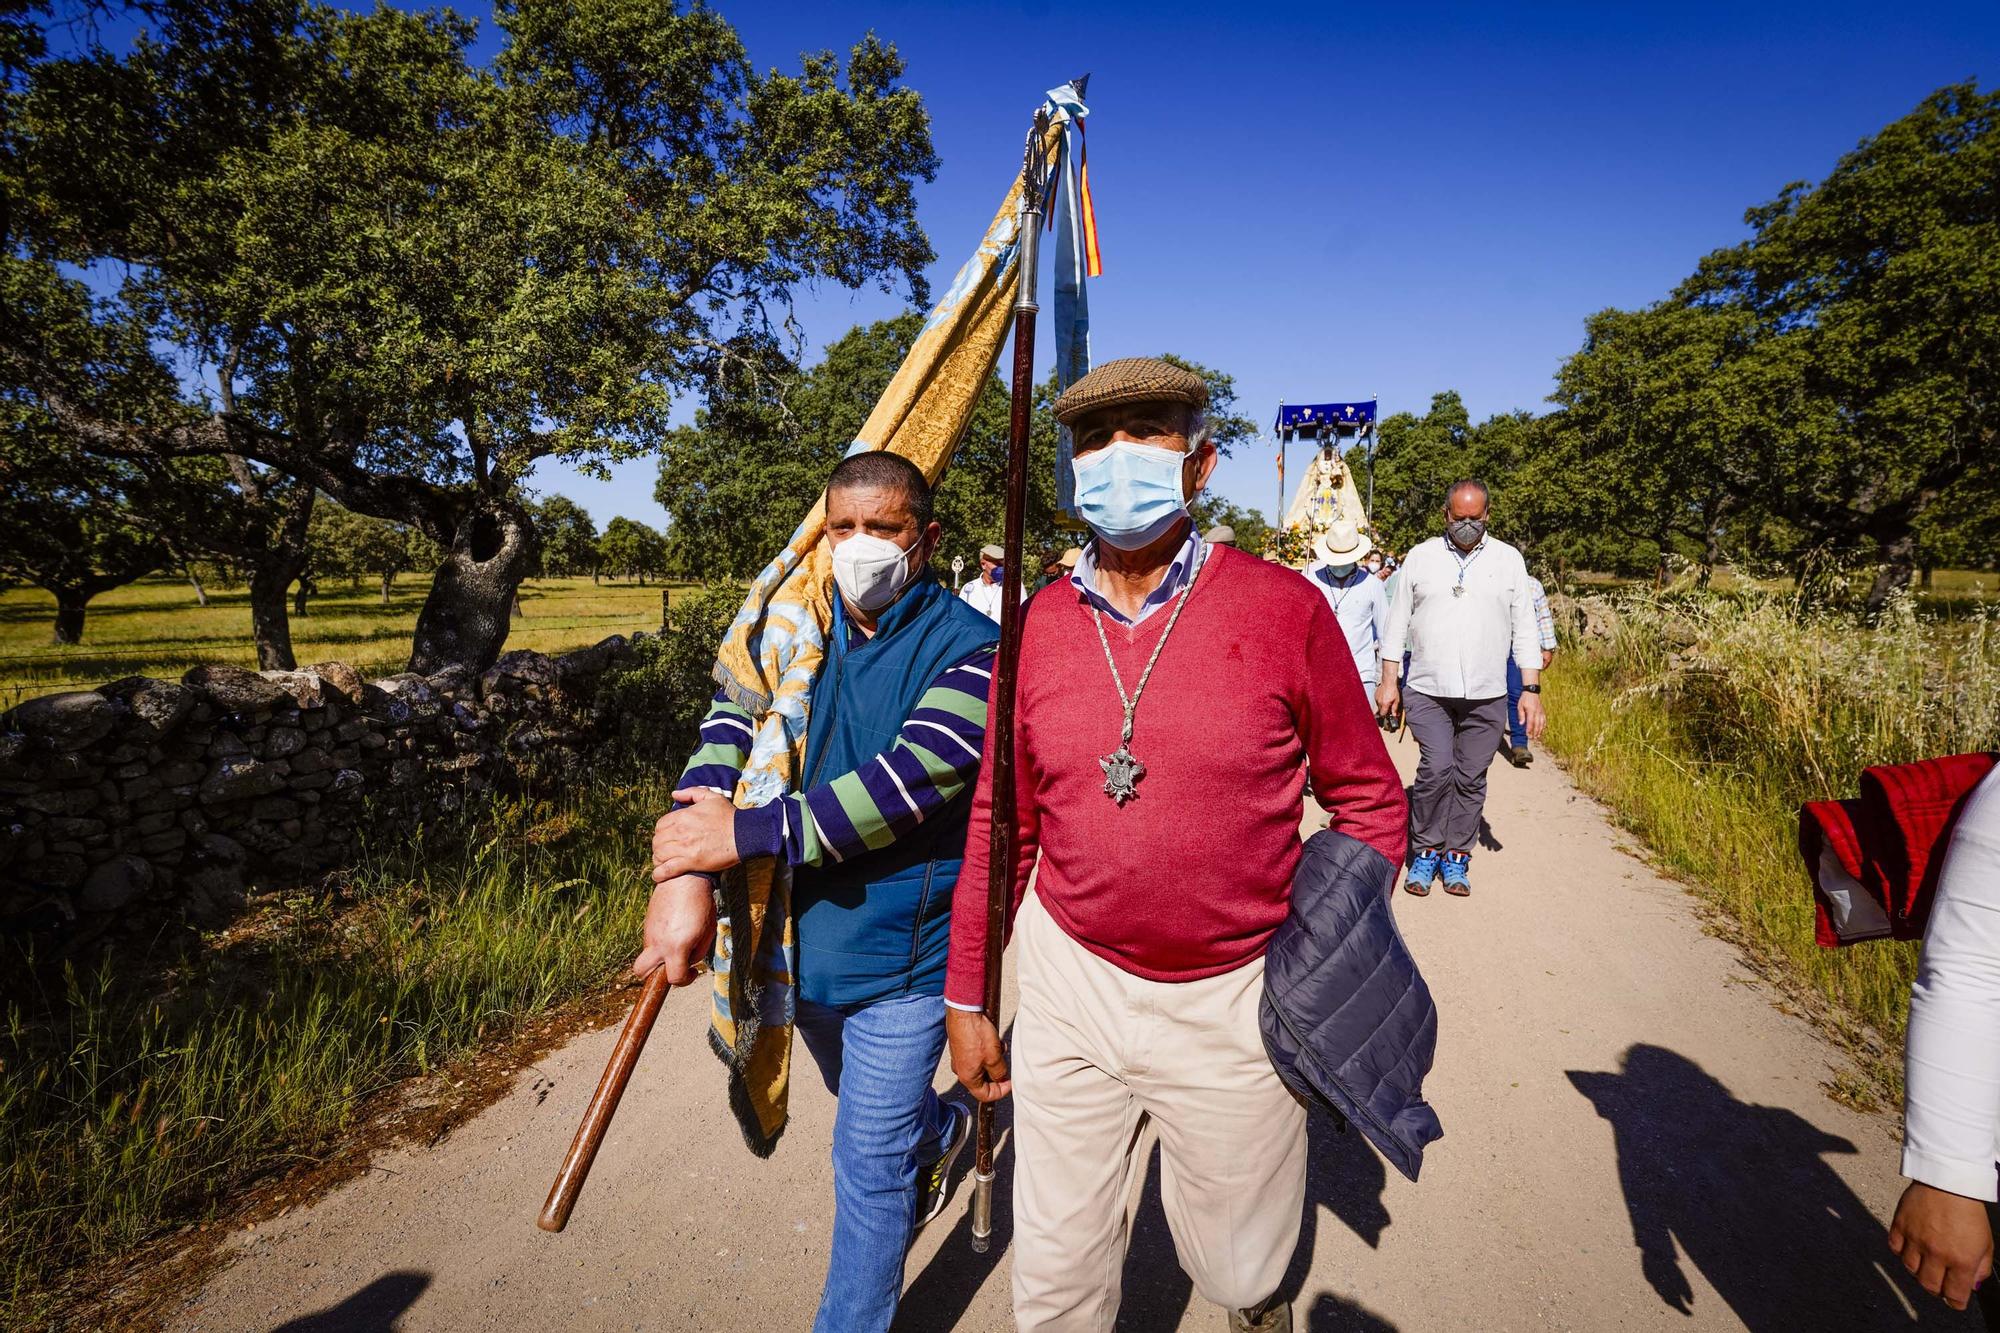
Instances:
[[[1394,578],[1382,634],[1376,713],[1404,709],[1416,735],[1410,787],[1410,877],[1424,897],[1444,877],[1452,897],[1472,893],[1472,841],[1486,805],[1486,769],[1506,735],[1506,658],[1520,662],[1520,721],[1542,735],[1542,660],[1528,564],[1486,532],[1486,482],[1456,480],[1444,500],[1444,536],[1412,548]],[[1410,679],[1402,654],[1410,652]],[[1404,689],[1406,687],[1406,689]]]

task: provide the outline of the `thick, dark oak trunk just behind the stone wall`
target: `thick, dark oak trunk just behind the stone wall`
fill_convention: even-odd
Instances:
[[[446,666],[480,673],[506,646],[514,590],[534,568],[534,522],[512,500],[480,496],[452,532],[444,564],[416,616],[410,671],[436,675]]]

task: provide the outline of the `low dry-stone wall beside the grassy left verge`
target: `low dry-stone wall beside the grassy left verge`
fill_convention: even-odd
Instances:
[[[0,715],[0,929],[214,923],[248,885],[348,861],[364,819],[574,775],[614,731],[592,701],[630,650],[508,652],[478,679],[196,666],[30,699]]]

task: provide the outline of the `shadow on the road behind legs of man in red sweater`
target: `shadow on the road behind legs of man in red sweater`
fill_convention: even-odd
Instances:
[[[1300,1307],[1306,1279],[1312,1275],[1312,1251],[1320,1239],[1320,1213],[1332,1213],[1358,1235],[1368,1249],[1382,1245],[1388,1231],[1388,1207],[1382,1189],[1388,1167],[1358,1131],[1338,1131],[1326,1115],[1306,1119],[1306,1217],[1298,1233],[1298,1251],[1278,1291]],[[1146,1169],[1146,1189],[1138,1215],[1132,1219],[1132,1247],[1126,1253],[1124,1301],[1118,1307],[1118,1327],[1170,1329],[1194,1301],[1194,1281],[1174,1255],[1174,1235],[1160,1203],[1160,1153],[1154,1147]],[[1332,1293],[1320,1293],[1306,1323],[1310,1329],[1388,1329],[1376,1315],[1350,1307]]]

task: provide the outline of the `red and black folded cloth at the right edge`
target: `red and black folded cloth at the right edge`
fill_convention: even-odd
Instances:
[[[1862,773],[1858,799],[1798,811],[1822,949],[1924,937],[1952,823],[1996,761],[1980,753],[1882,765]]]

